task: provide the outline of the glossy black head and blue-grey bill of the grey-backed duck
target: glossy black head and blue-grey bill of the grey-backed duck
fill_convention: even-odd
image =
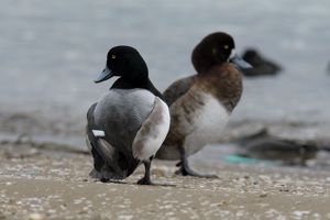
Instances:
[[[121,80],[138,82],[148,80],[147,67],[140,53],[131,46],[116,46],[108,52],[105,70],[95,82],[105,81],[112,76]]]

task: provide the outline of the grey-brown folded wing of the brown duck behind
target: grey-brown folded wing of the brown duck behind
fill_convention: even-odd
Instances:
[[[194,77],[194,76],[193,76]],[[184,96],[193,85],[193,77],[182,78],[177,81],[174,81],[165,91],[163,96],[166,100],[166,103],[170,106],[175,102],[178,98]]]

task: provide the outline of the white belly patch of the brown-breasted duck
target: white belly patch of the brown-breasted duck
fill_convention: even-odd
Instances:
[[[205,106],[194,119],[194,131],[184,143],[186,154],[191,155],[208,143],[220,141],[230,113],[211,95],[205,94]]]

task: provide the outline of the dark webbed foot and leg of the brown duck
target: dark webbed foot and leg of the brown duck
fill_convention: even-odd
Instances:
[[[180,162],[176,166],[180,166],[180,168],[176,170],[175,174],[182,174],[183,176],[195,176],[200,178],[219,178],[217,175],[198,174],[194,172],[188,165],[185,148],[183,146],[179,146],[178,150],[180,152]]]

